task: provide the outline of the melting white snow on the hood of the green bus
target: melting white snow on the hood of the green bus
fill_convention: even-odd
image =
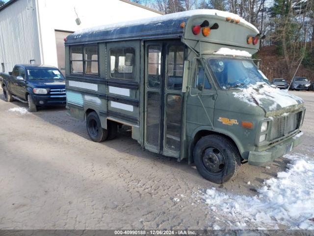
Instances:
[[[273,104],[269,106],[269,110],[276,110],[278,105],[284,108],[298,105],[297,101],[300,103],[303,102],[301,98],[294,96],[287,91],[282,91],[262,82],[259,82],[256,85],[249,85],[247,88],[240,90],[240,92],[233,92],[234,97],[252,106],[262,105],[263,99],[266,102],[271,100]]]

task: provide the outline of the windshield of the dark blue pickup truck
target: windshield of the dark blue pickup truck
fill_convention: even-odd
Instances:
[[[27,69],[28,80],[64,80],[63,75],[57,69],[34,68]]]

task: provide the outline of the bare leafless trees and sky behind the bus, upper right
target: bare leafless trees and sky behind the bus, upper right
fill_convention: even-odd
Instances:
[[[266,35],[263,46],[275,46],[287,77],[297,65],[314,70],[314,0],[133,0],[164,14],[191,9],[235,13]]]

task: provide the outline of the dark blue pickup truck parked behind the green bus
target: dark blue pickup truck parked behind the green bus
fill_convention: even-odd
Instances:
[[[19,64],[0,77],[5,100],[28,103],[30,112],[36,112],[38,106],[66,105],[65,79],[56,67]]]

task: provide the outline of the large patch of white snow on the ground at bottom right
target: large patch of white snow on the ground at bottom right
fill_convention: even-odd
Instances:
[[[282,224],[288,229],[314,230],[314,161],[292,159],[286,172],[264,181],[259,196],[226,194],[211,188],[203,199],[232,229],[278,229]]]

